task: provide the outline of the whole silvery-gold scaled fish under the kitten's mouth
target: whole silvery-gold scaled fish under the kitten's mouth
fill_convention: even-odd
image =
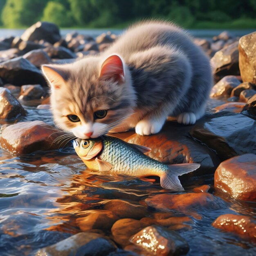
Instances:
[[[151,149],[112,136],[74,139],[76,154],[95,171],[134,177],[159,176],[164,189],[184,191],[178,176],[195,171],[200,164],[163,164],[145,153]],[[146,179],[147,180],[147,179]]]

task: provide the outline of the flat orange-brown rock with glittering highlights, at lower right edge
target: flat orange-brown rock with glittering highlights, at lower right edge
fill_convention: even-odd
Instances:
[[[217,229],[233,232],[241,238],[256,242],[256,221],[254,218],[243,215],[224,214],[219,216],[212,225]]]

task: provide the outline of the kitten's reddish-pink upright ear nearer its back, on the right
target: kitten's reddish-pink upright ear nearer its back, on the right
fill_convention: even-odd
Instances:
[[[114,79],[118,83],[124,83],[124,64],[117,55],[108,57],[101,65],[101,79]]]

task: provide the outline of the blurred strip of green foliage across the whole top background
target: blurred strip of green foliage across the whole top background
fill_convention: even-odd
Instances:
[[[4,27],[27,27],[41,18],[61,27],[117,27],[154,17],[183,27],[246,28],[254,26],[255,11],[255,0],[0,0]]]

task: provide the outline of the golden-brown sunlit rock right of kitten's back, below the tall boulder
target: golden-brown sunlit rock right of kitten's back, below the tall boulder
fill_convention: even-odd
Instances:
[[[211,89],[210,97],[220,97],[230,95],[232,90],[240,85],[240,81],[236,76],[225,76]]]

